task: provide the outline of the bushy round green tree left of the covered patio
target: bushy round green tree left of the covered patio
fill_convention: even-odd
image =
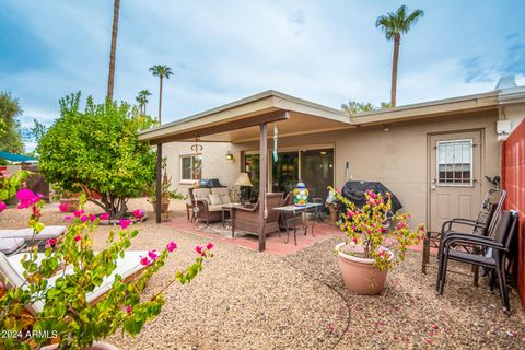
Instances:
[[[65,190],[100,192],[101,200],[89,200],[110,218],[122,218],[128,198],[155,179],[155,153],[137,138],[154,121],[107,98],[97,105],[88,97],[84,112],[79,105],[80,92],[60,100],[60,117],[37,147],[40,171]]]

